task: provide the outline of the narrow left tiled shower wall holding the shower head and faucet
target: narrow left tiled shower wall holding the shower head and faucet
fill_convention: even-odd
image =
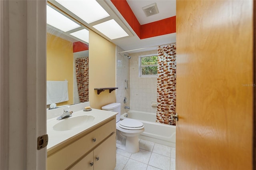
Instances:
[[[124,56],[122,48],[116,46],[116,103],[121,103],[121,115],[129,109],[124,109],[124,106],[130,106],[130,60]],[[125,53],[129,55],[128,53]],[[128,80],[128,89],[125,89]],[[124,97],[127,98],[127,103],[124,103]]]

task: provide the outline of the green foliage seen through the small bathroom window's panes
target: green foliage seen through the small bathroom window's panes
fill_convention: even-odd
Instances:
[[[157,56],[149,56],[141,58],[141,73],[142,75],[157,74]]]

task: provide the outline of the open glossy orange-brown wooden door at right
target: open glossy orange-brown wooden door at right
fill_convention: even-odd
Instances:
[[[252,169],[253,1],[176,2],[177,170]]]

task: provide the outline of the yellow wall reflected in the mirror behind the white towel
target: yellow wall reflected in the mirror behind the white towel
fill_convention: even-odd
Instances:
[[[68,101],[60,105],[73,104],[73,43],[47,33],[47,71],[46,79],[52,81],[68,80]]]

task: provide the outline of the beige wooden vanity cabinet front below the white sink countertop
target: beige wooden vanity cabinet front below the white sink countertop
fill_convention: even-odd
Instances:
[[[48,170],[113,170],[115,166],[115,116],[60,144],[47,156]]]

